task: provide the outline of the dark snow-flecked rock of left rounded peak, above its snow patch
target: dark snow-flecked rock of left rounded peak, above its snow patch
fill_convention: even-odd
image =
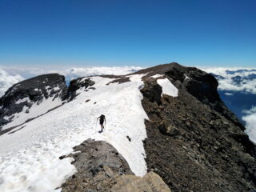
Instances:
[[[0,127],[11,122],[12,115],[20,113],[24,106],[29,110],[33,103],[39,105],[43,99],[65,97],[65,78],[59,74],[43,74],[18,82],[0,98]],[[6,119],[5,116],[9,118]]]

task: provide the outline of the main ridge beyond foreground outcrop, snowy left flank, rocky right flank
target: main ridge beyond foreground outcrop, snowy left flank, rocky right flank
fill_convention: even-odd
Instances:
[[[62,94],[55,93],[58,97],[54,94],[60,106],[46,104],[46,113],[21,125],[10,126],[25,117],[26,102],[20,102],[19,113],[6,111],[23,97],[14,96],[6,106],[1,102],[2,117],[16,117],[2,122],[1,189],[54,190],[76,172],[72,158],[59,157],[91,138],[114,146],[135,175],[153,170],[172,191],[255,191],[255,146],[219,98],[217,86],[202,70],[170,63],[123,76],[75,79],[58,90]],[[100,114],[106,115],[102,134],[96,122]]]

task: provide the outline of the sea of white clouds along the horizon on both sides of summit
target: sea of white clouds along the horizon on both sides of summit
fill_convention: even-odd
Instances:
[[[224,67],[199,67],[207,73],[214,74],[218,79],[218,90],[232,97],[235,92],[255,95],[255,104],[250,109],[242,109],[242,120],[246,124],[246,133],[256,143],[256,68],[224,68]],[[72,67],[61,70],[47,70],[36,67],[6,67],[0,66],[0,97],[5,91],[17,82],[39,74],[58,73],[66,77],[69,82],[73,78],[101,74],[130,74],[142,69],[135,66],[113,67]],[[245,101],[246,102],[246,101]]]

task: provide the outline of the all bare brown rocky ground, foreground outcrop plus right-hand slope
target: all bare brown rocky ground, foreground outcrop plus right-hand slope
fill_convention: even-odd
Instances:
[[[150,118],[144,141],[149,173],[134,176],[112,146],[86,141],[75,148],[82,151],[73,154],[78,173],[62,191],[256,191],[256,147],[219,98],[212,75],[177,63],[135,74],[146,74],[141,92]],[[162,95],[154,74],[169,78],[178,97]]]

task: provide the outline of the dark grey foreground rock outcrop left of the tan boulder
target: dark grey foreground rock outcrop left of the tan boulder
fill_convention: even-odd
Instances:
[[[118,175],[133,174],[125,158],[106,142],[86,140],[74,148],[76,174],[62,184],[62,191],[109,191]]]

